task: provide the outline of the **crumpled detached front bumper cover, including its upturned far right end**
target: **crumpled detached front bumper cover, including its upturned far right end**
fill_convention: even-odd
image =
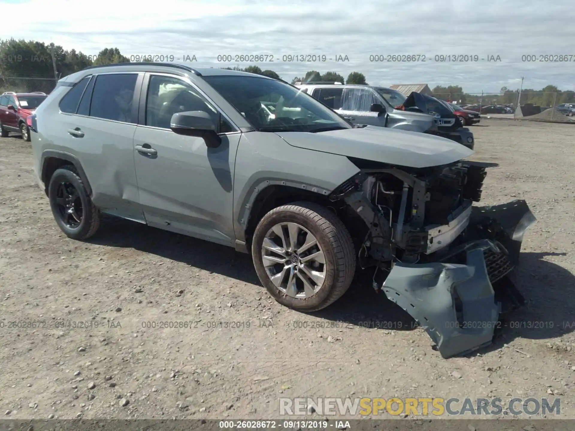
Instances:
[[[492,342],[501,303],[495,300],[485,252],[505,253],[515,265],[525,230],[535,221],[525,201],[473,207],[470,227],[497,226],[500,239],[473,238],[458,247],[466,263],[397,263],[382,289],[429,334],[444,358]],[[482,232],[484,228],[477,229]]]

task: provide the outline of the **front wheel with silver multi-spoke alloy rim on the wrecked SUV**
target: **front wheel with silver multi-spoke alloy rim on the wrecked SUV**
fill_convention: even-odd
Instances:
[[[355,274],[355,249],[346,226],[312,202],[293,202],[267,213],[255,229],[252,257],[271,296],[300,311],[335,302]]]

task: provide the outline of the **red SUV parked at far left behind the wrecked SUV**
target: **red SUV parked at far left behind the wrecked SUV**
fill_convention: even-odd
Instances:
[[[14,93],[8,91],[0,96],[0,136],[7,137],[10,132],[20,133],[22,139],[30,140],[26,118],[47,98],[45,93]]]

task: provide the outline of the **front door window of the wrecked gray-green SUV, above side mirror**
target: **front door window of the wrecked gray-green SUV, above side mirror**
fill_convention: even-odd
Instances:
[[[196,89],[182,79],[173,76],[152,75],[148,86],[145,125],[170,128],[174,114],[186,111],[203,111],[218,125],[218,133],[234,131],[216,107],[212,106]]]

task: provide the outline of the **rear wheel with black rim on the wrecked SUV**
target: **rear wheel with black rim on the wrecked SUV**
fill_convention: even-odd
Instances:
[[[74,166],[64,166],[53,173],[48,198],[56,223],[67,237],[86,240],[96,233],[99,211]]]

